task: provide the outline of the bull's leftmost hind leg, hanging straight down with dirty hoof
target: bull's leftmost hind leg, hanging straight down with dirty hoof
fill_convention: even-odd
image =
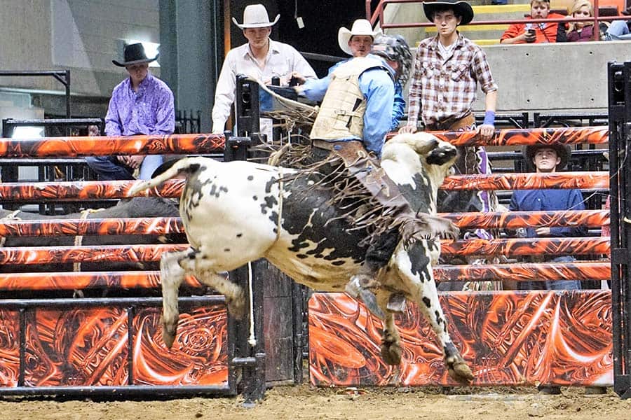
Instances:
[[[170,349],[177,333],[179,308],[177,294],[186,272],[179,265],[182,259],[194,252],[192,248],[186,251],[163,253],[160,258],[160,280],[162,284],[162,339]]]

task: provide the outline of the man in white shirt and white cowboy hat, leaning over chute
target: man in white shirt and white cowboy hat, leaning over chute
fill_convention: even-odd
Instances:
[[[236,90],[236,76],[239,73],[255,75],[266,84],[274,76],[280,78],[280,85],[287,86],[294,77],[299,83],[304,78],[315,77],[315,71],[306,59],[291,45],[272,41],[269,38],[271,27],[276,25],[280,15],[270,22],[265,6],[250,4],[243,11],[243,23],[232,21],[247,38],[247,43],[233,48],[224,59],[215,89],[215,105],[212,107],[212,132],[222,133],[230,116]],[[271,133],[271,125],[262,127],[262,132]]]

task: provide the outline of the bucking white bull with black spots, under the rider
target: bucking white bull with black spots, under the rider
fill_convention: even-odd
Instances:
[[[384,146],[381,165],[412,209],[419,211],[428,239],[400,243],[380,270],[377,280],[381,286],[374,293],[386,314],[381,346],[386,363],[396,365],[401,360],[400,336],[388,302],[392,295],[403,295],[416,302],[430,321],[449,374],[468,383],[473,374],[449,337],[432,272],[440,253],[437,235],[445,233],[445,226],[452,229],[450,235],[456,230],[433,216],[437,189],[455,158],[454,146],[426,133],[399,135]],[[220,273],[246,262],[266,258],[295,281],[332,292],[344,291],[358,272],[367,232],[354,230],[346,218],[339,218],[343,212],[327,204],[331,193],[314,188],[309,176],[282,181],[294,170],[186,158],[140,183],[131,194],[158,186],[181,172],[187,174],[187,181],[179,211],[190,248],[165,254],[161,260],[163,338],[168,346],[177,328],[178,288],[188,273],[226,295],[229,311],[240,316],[245,307],[243,290]]]

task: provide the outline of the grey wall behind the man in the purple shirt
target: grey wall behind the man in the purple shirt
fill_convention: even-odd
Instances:
[[[125,76],[122,40],[159,43],[158,0],[3,0],[0,69],[70,69],[74,94],[109,97]],[[159,74],[159,69],[152,69]],[[0,87],[62,91],[53,78],[0,78]]]

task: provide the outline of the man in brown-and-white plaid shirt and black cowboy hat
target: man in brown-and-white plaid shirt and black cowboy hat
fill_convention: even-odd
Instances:
[[[495,131],[497,85],[482,48],[456,30],[458,25],[473,20],[473,8],[466,1],[438,0],[424,2],[423,10],[438,34],[421,41],[416,50],[407,125],[399,132],[416,132],[421,119],[426,130],[477,130],[480,139],[490,140]],[[478,84],[486,95],[486,113],[484,123],[476,129],[471,108]],[[487,153],[481,146],[459,148],[455,168],[459,174],[491,173]],[[441,191],[438,203],[438,211],[491,211],[496,197],[488,191]],[[464,232],[464,238],[491,239],[491,235],[475,230]]]

